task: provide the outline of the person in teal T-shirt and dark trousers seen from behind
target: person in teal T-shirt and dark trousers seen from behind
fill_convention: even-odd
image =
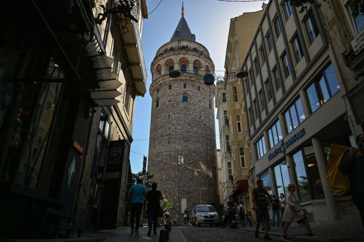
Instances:
[[[131,214],[130,214],[130,228],[132,229],[132,234],[134,233],[134,221],[135,223],[135,233],[139,234],[139,224],[141,210],[143,209],[144,198],[146,196],[146,188],[141,184],[141,179],[137,179],[137,184],[130,188],[125,205],[129,205],[129,200],[131,201]],[[135,216],[137,217],[135,219]]]

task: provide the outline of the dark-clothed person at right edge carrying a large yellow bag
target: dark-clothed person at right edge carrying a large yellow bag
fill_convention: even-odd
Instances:
[[[357,136],[356,143],[358,148],[351,147],[344,153],[339,170],[342,173],[349,173],[351,199],[359,209],[364,228],[364,134]]]

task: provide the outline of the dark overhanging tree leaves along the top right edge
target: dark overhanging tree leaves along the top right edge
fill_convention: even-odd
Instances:
[[[318,8],[321,7],[322,2],[328,2],[328,0],[289,0],[291,6],[300,7],[300,13],[307,12],[310,5],[315,4]],[[359,14],[364,13],[364,0],[353,0],[351,6],[351,15],[355,18]]]

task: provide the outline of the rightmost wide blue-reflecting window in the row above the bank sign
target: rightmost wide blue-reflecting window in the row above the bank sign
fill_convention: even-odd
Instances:
[[[315,112],[323,103],[340,90],[334,68],[330,64],[306,90],[311,112]]]

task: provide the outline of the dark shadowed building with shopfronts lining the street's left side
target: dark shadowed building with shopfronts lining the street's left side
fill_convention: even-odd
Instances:
[[[4,4],[15,8],[0,46],[0,237],[116,228],[146,92],[146,2]]]

